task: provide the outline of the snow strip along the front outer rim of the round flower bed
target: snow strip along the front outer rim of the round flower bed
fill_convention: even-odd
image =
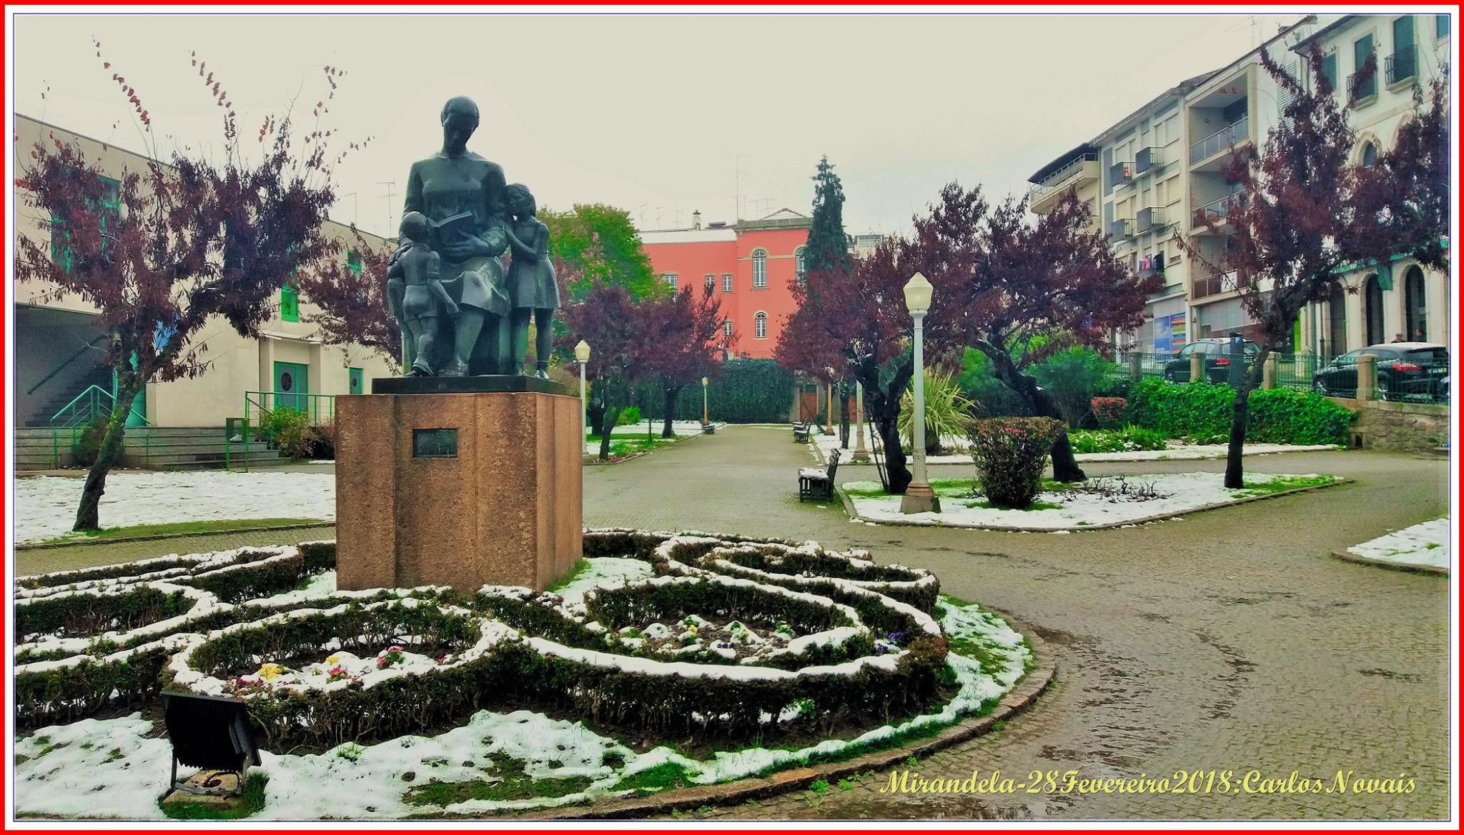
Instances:
[[[597,563],[602,560],[593,560]],[[608,575],[615,575],[613,567]],[[602,578],[605,579],[605,578]],[[253,819],[321,817],[400,819],[408,815],[471,815],[552,807],[624,797],[615,787],[630,775],[675,763],[692,784],[736,779],[813,756],[836,755],[927,725],[946,725],[1000,699],[1022,677],[1031,649],[1001,619],[978,605],[941,600],[941,623],[953,639],[981,645],[993,668],[952,652],[959,690],[938,709],[852,740],[824,740],[801,750],[747,747],[690,759],[660,746],[637,755],[583,722],[552,719],[531,711],[479,711],[463,727],[435,737],[403,736],[375,744],[346,743],[313,755],[261,752],[269,777],[264,810]],[[51,725],[16,738],[15,809],[18,815],[60,817],[161,819],[160,775],[170,747],[141,714]],[[580,791],[527,800],[466,800],[447,806],[411,804],[407,794],[429,782],[493,779],[496,759],[511,757],[530,779],[581,778]],[[609,757],[610,762],[606,762]],[[184,769],[184,774],[187,769]],[[548,785],[548,784],[546,784]]]

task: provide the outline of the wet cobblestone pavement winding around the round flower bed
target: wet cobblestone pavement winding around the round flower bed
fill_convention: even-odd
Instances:
[[[1328,557],[1448,509],[1448,462],[1312,452],[1249,458],[1256,472],[1354,480],[1315,493],[1083,534],[868,526],[836,505],[799,505],[811,462],[786,428],[716,436],[586,469],[586,524],[703,529],[868,547],[935,570],[943,591],[1041,635],[1058,679],[1003,730],[921,760],[934,778],[1076,769],[1082,777],[1259,769],[1265,777],[1407,774],[1411,794],[899,797],[889,772],[823,796],[793,793],[687,817],[1234,817],[1448,816],[1448,581]],[[1222,461],[1095,464],[1092,474],[1215,471]],[[933,477],[968,475],[931,468]],[[874,478],[845,466],[839,481]],[[72,567],[331,531],[196,537],[20,554]],[[113,548],[119,548],[113,551]],[[72,554],[67,551],[88,551]],[[113,556],[114,554],[114,556]],[[45,567],[31,564],[50,560]]]

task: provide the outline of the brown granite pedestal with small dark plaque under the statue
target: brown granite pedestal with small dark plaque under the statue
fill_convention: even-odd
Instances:
[[[580,399],[523,380],[376,380],[335,398],[338,588],[542,591],[574,567]]]

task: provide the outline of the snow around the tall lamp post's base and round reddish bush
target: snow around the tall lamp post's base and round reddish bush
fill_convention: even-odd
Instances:
[[[1155,499],[1140,502],[1113,500],[1094,487],[1117,487],[1120,478],[1130,487],[1152,484]],[[855,512],[873,522],[905,522],[914,525],[960,525],[979,528],[1022,528],[1031,531],[1080,529],[1097,525],[1136,522],[1152,516],[1184,513],[1211,505],[1237,502],[1250,494],[1249,490],[1228,490],[1221,472],[1164,472],[1126,477],[1089,478],[1075,490],[1039,493],[1037,502],[1058,505],[1053,509],[1007,510],[981,507],[981,496],[965,491],[940,491],[940,513],[900,513],[899,496],[858,496],[858,491],[878,490],[878,481],[851,481],[843,484],[854,500]],[[1253,477],[1258,483],[1262,477]],[[1266,475],[1271,478],[1294,478],[1293,475]],[[959,493],[965,493],[960,496]]]

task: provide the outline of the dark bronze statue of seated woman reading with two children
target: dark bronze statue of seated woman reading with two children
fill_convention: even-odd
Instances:
[[[442,107],[442,151],[411,164],[401,237],[386,268],[386,298],[401,326],[411,377],[534,374],[548,379],[559,287],[549,228],[534,196],[507,184],[496,162],[467,149],[477,105]],[[504,268],[504,253],[509,263]]]

